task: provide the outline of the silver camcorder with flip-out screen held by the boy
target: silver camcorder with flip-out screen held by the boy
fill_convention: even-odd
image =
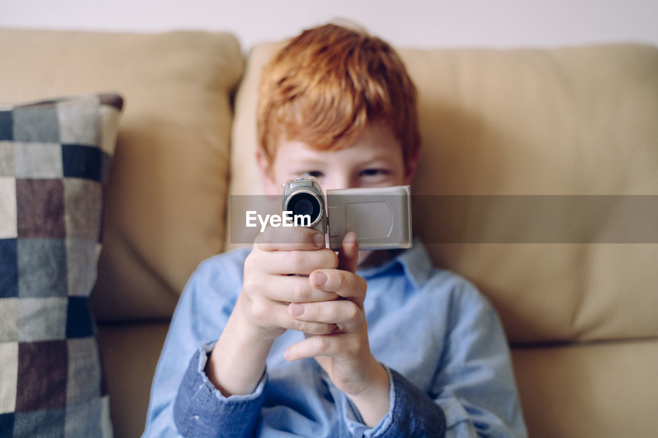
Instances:
[[[329,247],[340,249],[343,237],[354,231],[359,249],[410,248],[411,189],[409,185],[327,190],[313,178],[286,183],[282,208],[295,224],[329,233]]]

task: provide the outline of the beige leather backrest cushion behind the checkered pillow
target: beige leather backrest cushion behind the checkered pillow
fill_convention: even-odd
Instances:
[[[229,34],[1,30],[0,103],[119,92],[125,100],[91,295],[99,320],[168,318],[221,251],[243,56]]]

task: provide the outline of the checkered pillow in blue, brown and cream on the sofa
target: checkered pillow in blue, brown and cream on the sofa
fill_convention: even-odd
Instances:
[[[88,297],[121,107],[0,107],[0,437],[112,435]]]

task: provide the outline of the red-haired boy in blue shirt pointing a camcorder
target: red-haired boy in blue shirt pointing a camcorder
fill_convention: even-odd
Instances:
[[[261,80],[266,192],[409,184],[416,91],[384,41],[326,25]],[[285,242],[285,243],[284,243]],[[293,276],[290,274],[301,274]],[[309,228],[268,228],[203,262],[159,361],[144,436],[523,436],[509,351],[488,302],[422,244],[336,255]]]

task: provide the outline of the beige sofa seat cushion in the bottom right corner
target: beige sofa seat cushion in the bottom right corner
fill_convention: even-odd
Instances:
[[[531,437],[651,437],[658,339],[512,351]]]

